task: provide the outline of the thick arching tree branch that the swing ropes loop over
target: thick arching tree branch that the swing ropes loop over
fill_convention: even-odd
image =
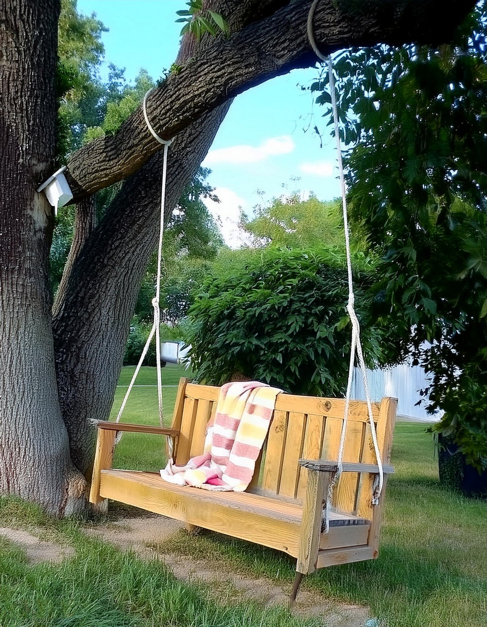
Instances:
[[[251,3],[252,4],[252,3]],[[281,3],[275,3],[280,6]],[[148,102],[148,116],[163,139],[171,139],[228,98],[294,68],[313,66],[307,38],[310,0],[295,0],[265,19],[219,38],[170,75]],[[324,53],[376,43],[438,43],[474,2],[455,0],[322,0],[314,19]],[[266,3],[267,8],[273,5]],[[148,132],[139,108],[115,136],[94,140],[68,161],[74,201],[136,172],[160,144]]]

